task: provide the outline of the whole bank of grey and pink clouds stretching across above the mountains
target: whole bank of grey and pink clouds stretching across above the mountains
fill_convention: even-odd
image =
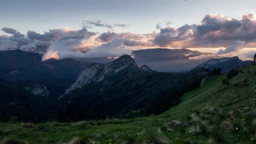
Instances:
[[[118,57],[142,48],[224,48],[212,55],[238,53],[241,48],[256,48],[256,20],[249,13],[234,19],[222,15],[205,15],[200,24],[172,27],[170,21],[158,23],[159,32],[136,34],[116,32],[115,27],[128,24],[107,24],[107,21],[83,21],[79,30],[70,28],[50,29],[43,34],[29,30],[26,35],[18,30],[3,27],[7,35],[0,35],[0,50],[21,49],[43,53],[43,60],[67,57]],[[163,28],[161,28],[164,26]],[[87,28],[105,27],[107,32],[91,32]],[[154,29],[154,28],[153,28]]]

